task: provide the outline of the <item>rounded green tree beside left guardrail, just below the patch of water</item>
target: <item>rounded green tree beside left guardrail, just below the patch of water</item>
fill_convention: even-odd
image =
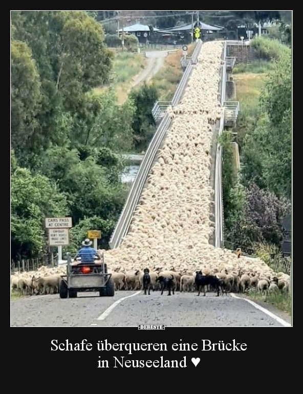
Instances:
[[[48,149],[42,159],[41,171],[68,195],[73,223],[94,215],[117,220],[123,208],[126,186],[113,182],[109,167],[98,165],[98,159],[80,160],[79,151],[68,146]]]

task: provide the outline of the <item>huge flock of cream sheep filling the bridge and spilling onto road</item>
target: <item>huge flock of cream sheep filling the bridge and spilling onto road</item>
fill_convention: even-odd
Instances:
[[[127,235],[118,248],[98,251],[104,253],[116,290],[141,289],[144,268],[149,268],[155,290],[156,277],[164,272],[174,275],[177,290],[192,291],[194,273],[200,270],[224,279],[233,292],[252,286],[260,291],[275,286],[288,289],[289,276],[273,272],[261,259],[238,258],[234,252],[209,243],[214,231],[212,126],[224,112],[218,99],[222,51],[223,42],[203,44],[180,103],[167,109],[172,123]],[[49,279],[42,268],[34,275],[27,274],[26,279],[18,279],[20,282],[13,278],[13,286],[27,294],[57,291],[60,273],[51,271]],[[55,286],[48,284],[50,278]]]

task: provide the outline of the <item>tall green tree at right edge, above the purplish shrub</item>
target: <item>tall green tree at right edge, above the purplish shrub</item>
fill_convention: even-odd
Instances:
[[[244,177],[276,195],[291,197],[291,54],[279,56],[262,92],[263,115],[244,139]]]

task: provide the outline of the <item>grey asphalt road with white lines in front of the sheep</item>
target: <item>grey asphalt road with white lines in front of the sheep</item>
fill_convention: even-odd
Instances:
[[[287,326],[290,318],[270,307],[270,315],[247,300],[230,294],[206,297],[196,293],[145,296],[143,292],[119,291],[114,297],[79,293],[77,298],[60,299],[58,294],[23,297],[11,301],[12,327],[137,326]],[[132,296],[132,297],[129,297]],[[261,304],[261,303],[259,303]],[[268,308],[264,304],[263,307]],[[271,315],[271,313],[274,315]],[[276,317],[275,317],[276,316]],[[279,320],[282,318],[283,320]]]

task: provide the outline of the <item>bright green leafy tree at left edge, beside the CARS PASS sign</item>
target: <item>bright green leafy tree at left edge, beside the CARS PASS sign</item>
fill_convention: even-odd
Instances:
[[[16,164],[11,152],[11,257],[37,257],[46,250],[45,217],[69,213],[66,195],[41,174]]]

